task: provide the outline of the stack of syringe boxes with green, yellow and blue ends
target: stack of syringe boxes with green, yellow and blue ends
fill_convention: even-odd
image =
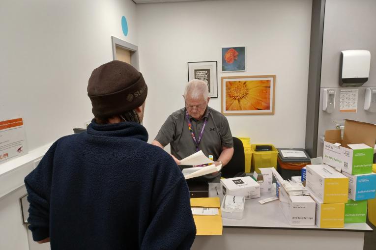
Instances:
[[[326,165],[307,165],[304,170],[306,187],[316,201],[318,227],[366,222],[367,200],[376,195],[375,141],[374,124],[346,120],[343,138],[341,130],[326,131]]]

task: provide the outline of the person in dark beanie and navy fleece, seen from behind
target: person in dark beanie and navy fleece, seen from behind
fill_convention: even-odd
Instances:
[[[143,75],[108,62],[92,72],[87,95],[87,132],[58,139],[25,178],[33,240],[52,250],[190,249],[187,183],[141,125]]]

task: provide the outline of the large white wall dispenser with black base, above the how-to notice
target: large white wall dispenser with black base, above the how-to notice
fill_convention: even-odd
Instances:
[[[340,86],[361,86],[368,81],[371,53],[367,50],[341,51]]]

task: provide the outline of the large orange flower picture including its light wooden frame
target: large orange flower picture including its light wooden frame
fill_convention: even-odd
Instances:
[[[275,75],[222,77],[224,115],[274,114]]]

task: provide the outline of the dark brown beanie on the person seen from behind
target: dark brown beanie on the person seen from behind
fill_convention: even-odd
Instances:
[[[108,118],[140,107],[146,99],[143,75],[122,61],[110,61],[94,69],[87,85],[95,117]]]

